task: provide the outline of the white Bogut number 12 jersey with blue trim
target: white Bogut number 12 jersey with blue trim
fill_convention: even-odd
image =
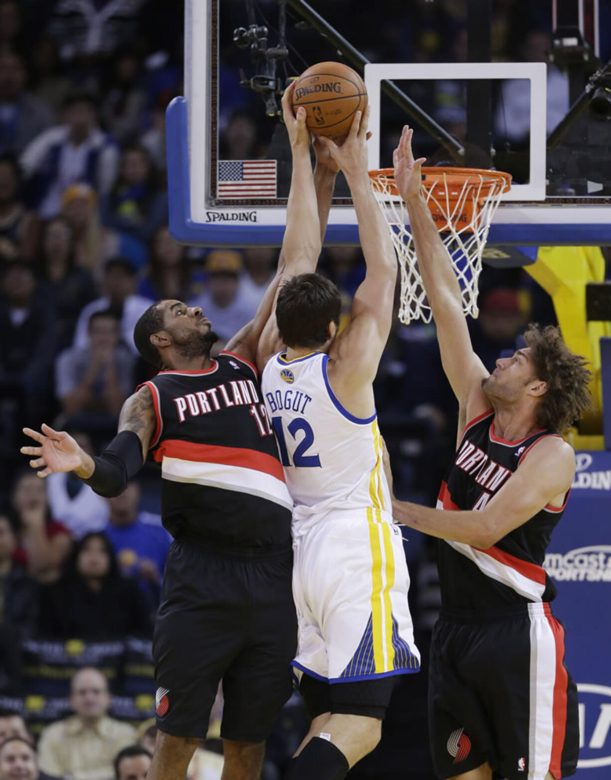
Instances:
[[[286,360],[280,353],[261,378],[296,523],[331,510],[390,513],[376,415],[354,417],[341,406],[327,378],[328,359],[311,353]]]

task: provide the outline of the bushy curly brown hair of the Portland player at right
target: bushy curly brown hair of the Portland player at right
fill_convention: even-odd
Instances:
[[[539,404],[537,423],[561,434],[582,412],[592,408],[588,389],[592,372],[586,368],[588,360],[572,353],[553,325],[539,328],[538,324],[531,323],[524,339],[530,347],[537,378],[547,385]]]

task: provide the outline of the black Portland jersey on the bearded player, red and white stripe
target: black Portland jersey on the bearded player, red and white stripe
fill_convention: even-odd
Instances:
[[[160,371],[153,393],[162,522],[215,544],[288,544],[292,501],[256,369],[221,353],[207,371]]]

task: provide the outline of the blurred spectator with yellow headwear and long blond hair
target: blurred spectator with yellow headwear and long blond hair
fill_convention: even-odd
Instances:
[[[104,261],[118,254],[118,239],[100,223],[94,188],[86,183],[69,186],[62,195],[62,215],[72,229],[75,265],[97,278]]]

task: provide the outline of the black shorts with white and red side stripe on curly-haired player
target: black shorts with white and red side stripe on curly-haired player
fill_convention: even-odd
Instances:
[[[468,622],[442,612],[431,644],[429,729],[439,778],[486,761],[507,780],[573,775],[577,688],[549,604]]]

